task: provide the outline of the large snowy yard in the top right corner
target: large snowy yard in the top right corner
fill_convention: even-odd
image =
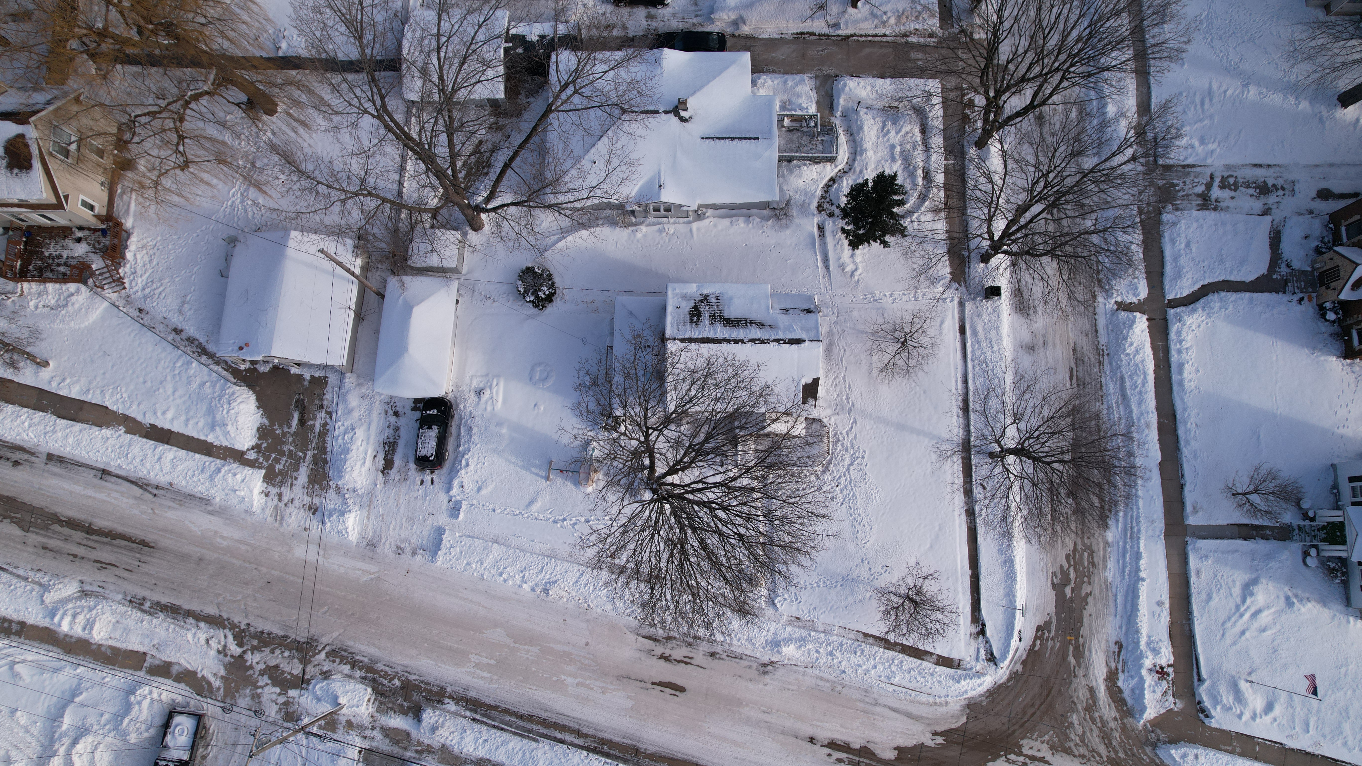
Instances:
[[[1362,110],[1339,109],[1337,90],[1312,90],[1287,74],[1294,25],[1323,18],[1305,3],[1248,0],[1184,4],[1196,25],[1186,60],[1155,83],[1182,101],[1192,164],[1335,164],[1362,161]],[[1352,83],[1340,83],[1339,90]],[[1170,293],[1171,294],[1171,293]]]

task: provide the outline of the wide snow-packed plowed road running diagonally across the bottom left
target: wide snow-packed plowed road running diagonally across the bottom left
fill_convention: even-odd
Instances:
[[[10,522],[0,560],[293,632],[301,532],[0,451]],[[34,512],[94,529],[26,523]],[[332,645],[469,695],[701,763],[827,763],[810,740],[892,754],[964,718],[960,705],[904,702],[718,646],[693,665],[667,662],[622,620],[338,538],[321,547],[312,626]]]

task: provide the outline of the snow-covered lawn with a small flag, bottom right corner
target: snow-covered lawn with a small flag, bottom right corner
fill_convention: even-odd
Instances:
[[[1211,724],[1362,759],[1362,620],[1343,586],[1302,564],[1291,542],[1193,540],[1188,568]],[[1305,695],[1306,673],[1318,699]]]

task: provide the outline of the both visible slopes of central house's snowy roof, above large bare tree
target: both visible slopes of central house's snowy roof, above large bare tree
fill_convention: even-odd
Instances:
[[[772,293],[770,285],[667,285],[666,341],[669,349],[695,343],[759,364],[791,402],[823,376],[817,303],[809,294]]]

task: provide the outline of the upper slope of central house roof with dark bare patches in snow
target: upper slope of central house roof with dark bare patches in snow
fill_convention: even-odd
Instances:
[[[667,285],[669,341],[802,343],[819,341],[813,296],[772,293],[771,285]]]

